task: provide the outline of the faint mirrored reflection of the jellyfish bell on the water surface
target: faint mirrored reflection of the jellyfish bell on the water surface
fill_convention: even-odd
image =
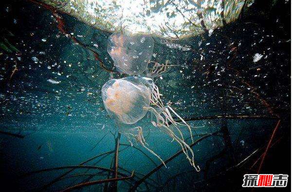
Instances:
[[[108,52],[120,72],[141,74],[147,70],[151,59],[153,39],[148,35],[112,34],[108,41]]]

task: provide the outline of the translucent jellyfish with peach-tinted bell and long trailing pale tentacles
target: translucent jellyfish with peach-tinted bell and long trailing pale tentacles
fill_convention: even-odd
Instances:
[[[137,140],[164,164],[163,159],[146,146],[143,128],[136,126],[137,122],[146,115],[147,111],[150,111],[155,117],[151,121],[152,125],[160,128],[172,138],[172,141],[176,141],[181,146],[190,164],[197,171],[200,171],[200,167],[196,165],[194,160],[194,152],[185,142],[183,133],[180,130],[180,126],[186,127],[193,140],[191,126],[171,106],[163,104],[159,89],[152,79],[146,77],[111,79],[102,87],[102,98],[106,110],[117,122],[119,128],[123,129],[123,133],[126,134],[129,141],[131,138]],[[176,122],[173,116],[179,118],[181,122]],[[127,130],[127,127],[129,127],[127,125],[133,125],[135,132],[133,132],[132,128]]]

